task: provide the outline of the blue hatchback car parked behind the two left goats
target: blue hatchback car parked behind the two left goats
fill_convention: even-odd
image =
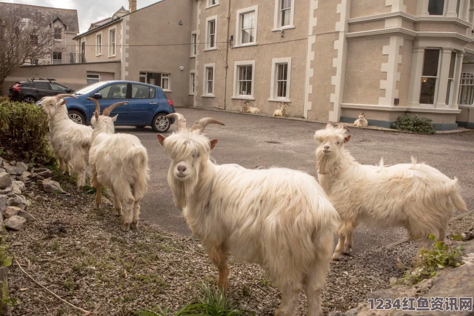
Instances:
[[[112,111],[111,117],[118,115],[116,125],[152,126],[157,133],[164,133],[174,122],[174,119],[165,118],[175,113],[173,102],[156,85],[121,80],[99,81],[73,94],[78,98],[65,98],[66,108],[69,118],[80,124],[89,124],[94,115],[95,104],[87,100],[88,97],[99,101],[101,112],[111,104],[128,102]]]

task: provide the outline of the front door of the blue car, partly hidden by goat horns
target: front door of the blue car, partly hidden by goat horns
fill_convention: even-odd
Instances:
[[[102,94],[102,98],[99,99],[100,104],[100,112],[102,113],[105,108],[111,106],[117,102],[128,102],[127,99],[127,82],[116,82],[111,83],[100,90],[92,92],[90,95],[94,93]],[[90,115],[94,115],[95,111],[95,104],[94,102],[90,101],[89,103],[89,111]],[[110,114],[110,117],[115,117],[118,115],[117,120],[115,121],[116,124],[125,124],[127,122],[127,113],[128,113],[128,105],[120,105],[115,108],[114,111]]]

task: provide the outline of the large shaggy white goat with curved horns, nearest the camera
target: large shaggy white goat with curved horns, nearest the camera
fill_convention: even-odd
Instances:
[[[316,179],[289,169],[216,165],[209,155],[217,139],[201,133],[207,124],[224,124],[202,118],[187,129],[181,114],[168,117],[178,119],[177,132],[157,135],[171,158],[168,184],[218,268],[218,287],[228,288],[230,252],[267,270],[283,293],[275,315],[293,315],[302,283],[308,314],[319,315],[338,215]]]

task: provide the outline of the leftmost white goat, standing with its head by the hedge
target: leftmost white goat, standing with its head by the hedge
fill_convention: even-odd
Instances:
[[[82,192],[85,185],[85,167],[87,153],[92,140],[92,128],[81,125],[68,117],[65,97],[76,96],[72,94],[58,94],[41,99],[41,108],[49,120],[49,142],[54,155],[59,159],[59,170],[70,174],[69,162],[78,175],[78,192]]]

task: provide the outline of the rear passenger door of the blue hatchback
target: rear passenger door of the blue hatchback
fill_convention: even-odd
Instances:
[[[127,123],[149,125],[158,107],[158,100],[155,99],[156,88],[138,83],[131,83],[130,86]]]

